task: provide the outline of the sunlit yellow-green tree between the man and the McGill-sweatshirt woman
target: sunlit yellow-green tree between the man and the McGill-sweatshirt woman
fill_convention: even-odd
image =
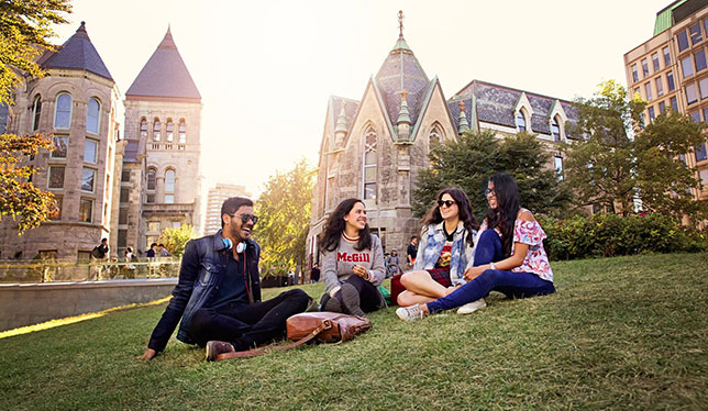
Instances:
[[[262,247],[264,267],[305,266],[313,187],[314,170],[305,159],[289,171],[276,171],[265,184],[256,202],[258,224],[253,233]]]

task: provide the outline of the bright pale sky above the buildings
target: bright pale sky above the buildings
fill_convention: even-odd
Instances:
[[[623,55],[671,0],[78,0],[65,42],[88,34],[124,93],[167,26],[202,96],[202,190],[319,158],[330,96],[359,100],[403,36],[449,99],[473,79],[572,100],[626,85]],[[434,5],[433,5],[434,4]],[[122,122],[122,121],[121,121]]]

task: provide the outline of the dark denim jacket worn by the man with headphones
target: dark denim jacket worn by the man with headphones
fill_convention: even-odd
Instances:
[[[209,307],[223,281],[229,264],[229,253],[223,244],[221,230],[213,235],[192,240],[187,243],[181,257],[179,280],[173,290],[165,313],[155,326],[147,346],[162,352],[165,349],[169,337],[175,332],[177,323],[179,331],[177,340],[186,344],[196,342],[189,335],[189,323],[195,312],[202,307]],[[261,301],[261,276],[258,274],[258,259],[261,247],[252,240],[246,241],[246,264],[248,271],[248,288],[251,302]]]

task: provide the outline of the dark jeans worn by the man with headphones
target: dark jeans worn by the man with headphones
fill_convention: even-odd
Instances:
[[[200,346],[218,340],[230,342],[236,351],[245,351],[283,337],[286,320],[303,312],[309,302],[305,291],[292,289],[253,304],[202,308],[195,312],[189,331]]]

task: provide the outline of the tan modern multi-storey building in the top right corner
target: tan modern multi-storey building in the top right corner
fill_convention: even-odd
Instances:
[[[666,110],[708,123],[708,1],[674,1],[656,13],[654,35],[624,54],[628,89],[648,102],[648,124]],[[708,149],[704,141],[682,156],[703,181],[694,197],[708,200]]]

